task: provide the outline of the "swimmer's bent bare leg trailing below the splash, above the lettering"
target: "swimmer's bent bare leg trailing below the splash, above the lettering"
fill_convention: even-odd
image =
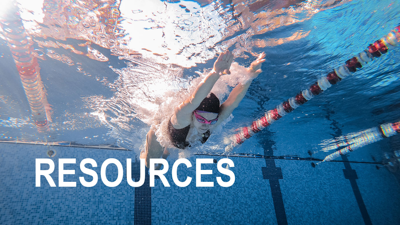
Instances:
[[[150,167],[150,159],[158,159],[162,156],[164,147],[157,141],[156,134],[150,129],[146,135],[146,150],[140,153],[141,159],[146,159],[146,167]]]

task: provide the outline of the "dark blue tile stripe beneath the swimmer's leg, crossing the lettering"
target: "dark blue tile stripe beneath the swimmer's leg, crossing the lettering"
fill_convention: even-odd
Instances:
[[[151,225],[151,187],[148,169],[145,171],[144,184],[135,187],[134,225]],[[140,179],[140,161],[136,158],[132,163],[132,179]]]

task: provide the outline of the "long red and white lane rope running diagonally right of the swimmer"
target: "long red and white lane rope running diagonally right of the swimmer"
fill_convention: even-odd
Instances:
[[[335,68],[328,75],[320,78],[317,82],[312,84],[310,88],[302,90],[296,96],[289,98],[287,101],[279,104],[273,110],[269,110],[260,119],[253,121],[250,126],[240,128],[240,133],[232,136],[232,142],[225,147],[226,152],[232,151],[236,145],[243,143],[246,139],[250,138],[254,133],[257,133],[268,127],[274,121],[286,115],[298,106],[306,103],[314,96],[322,93],[330,88],[332,84],[336,84],[343,78],[346,78],[352,72],[356,72],[358,68],[372,62],[374,58],[380,57],[382,54],[388,52],[389,49],[394,48],[400,42],[400,25],[394,28],[388,35],[370,44],[366,50],[360,52],[353,58],[346,61],[345,64]]]

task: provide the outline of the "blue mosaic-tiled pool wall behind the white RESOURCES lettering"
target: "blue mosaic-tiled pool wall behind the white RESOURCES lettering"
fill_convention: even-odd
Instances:
[[[192,167],[178,169],[181,181],[192,177],[187,187],[174,184],[174,160],[168,159],[171,187],[160,179],[149,187],[146,173],[144,185],[135,188],[126,181],[126,159],[135,160],[133,151],[53,148],[54,182],[58,186],[58,159],[74,158],[76,164],[65,164],[65,169],[75,169],[75,175],[64,175],[64,181],[76,181],[76,187],[50,187],[44,177],[41,187],[35,187],[35,159],[48,158],[47,147],[0,143],[0,224],[400,224],[399,184],[376,164],[326,162],[312,167],[305,160],[230,157],[234,185],[220,187],[216,164],[203,164],[213,174],[202,175],[202,181],[214,181],[214,187],[196,187],[196,158],[216,157],[194,155],[189,158]],[[94,187],[79,182],[80,176],[91,180],[79,169],[84,158],[98,164]],[[100,178],[100,166],[108,158],[124,167],[116,187],[107,187]],[[107,167],[108,180],[116,179],[116,171],[115,165]],[[134,162],[132,177],[138,174],[139,163]]]

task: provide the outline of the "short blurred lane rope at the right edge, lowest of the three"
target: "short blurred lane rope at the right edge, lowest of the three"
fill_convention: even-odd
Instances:
[[[332,160],[336,159],[337,157],[339,157],[340,155],[344,155],[344,154],[354,151],[362,146],[365,146],[370,143],[374,143],[376,141],[384,139],[385,137],[393,136],[396,133],[400,133],[400,122],[386,123],[386,124],[380,125],[379,127],[374,127],[374,128],[368,129],[368,132],[365,133],[364,135],[360,136],[356,143],[351,144],[347,147],[344,147],[344,148],[340,149],[339,151],[336,151],[336,152],[326,156],[325,159],[320,161],[319,163],[322,163],[323,161],[332,161]],[[319,163],[317,163],[317,164],[319,164]]]

